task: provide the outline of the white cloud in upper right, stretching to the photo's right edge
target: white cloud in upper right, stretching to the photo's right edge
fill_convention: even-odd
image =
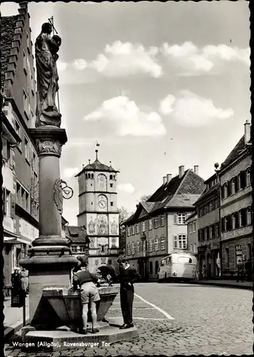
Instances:
[[[161,54],[180,71],[178,74],[191,76],[198,74],[213,74],[215,71],[225,70],[229,61],[240,61],[250,65],[250,49],[238,47],[208,45],[198,48],[191,42],[181,45],[164,43]]]

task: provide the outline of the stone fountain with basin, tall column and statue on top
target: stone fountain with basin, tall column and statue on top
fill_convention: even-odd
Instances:
[[[53,26],[54,28],[54,26]],[[77,259],[71,255],[66,238],[61,236],[63,196],[73,191],[60,178],[59,159],[66,144],[65,129],[61,129],[61,114],[55,97],[59,89],[56,52],[59,36],[52,36],[52,24],[43,24],[36,39],[37,109],[36,128],[30,129],[39,156],[39,238],[32,242],[28,258],[20,265],[29,270],[29,326],[22,331],[24,349],[56,351],[84,343],[123,341],[138,336],[136,328],[119,330],[105,315],[118,293],[118,286],[101,286],[98,303],[98,327],[93,335],[78,333],[81,328],[81,298],[71,286],[71,269]],[[51,42],[51,49],[42,55],[40,46]],[[46,60],[50,57],[50,61]],[[49,67],[49,68],[48,68]],[[47,71],[45,70],[47,69]],[[49,78],[51,74],[51,78]],[[71,193],[71,194],[72,194]],[[79,343],[79,344],[78,344]]]

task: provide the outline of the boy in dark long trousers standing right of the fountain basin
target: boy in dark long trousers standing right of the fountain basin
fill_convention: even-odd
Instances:
[[[132,307],[134,288],[133,283],[141,279],[141,275],[135,268],[131,268],[128,259],[125,256],[118,258],[120,266],[119,273],[113,277],[114,281],[120,281],[120,301],[123,314],[123,326],[120,328],[133,327]]]

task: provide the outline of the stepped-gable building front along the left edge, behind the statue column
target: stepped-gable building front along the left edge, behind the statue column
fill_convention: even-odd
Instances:
[[[19,14],[1,17],[1,117],[16,133],[16,143],[4,141],[4,276],[39,236],[39,161],[29,134],[35,123],[36,81],[27,3]],[[6,139],[6,138],[5,138]]]

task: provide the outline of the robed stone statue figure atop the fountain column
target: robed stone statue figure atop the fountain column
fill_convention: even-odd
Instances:
[[[61,46],[58,35],[51,36],[52,26],[45,23],[41,26],[41,34],[36,39],[35,56],[37,71],[37,107],[35,126],[61,125],[61,114],[56,107],[56,93],[59,90],[59,75],[56,61]]]

